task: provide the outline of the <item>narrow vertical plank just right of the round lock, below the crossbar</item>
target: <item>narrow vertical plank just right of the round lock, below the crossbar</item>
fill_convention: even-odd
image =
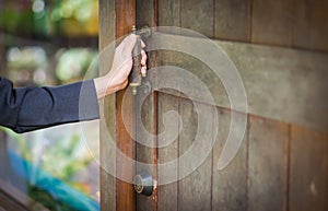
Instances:
[[[172,134],[178,134],[178,118],[168,118],[168,114],[175,112],[178,113],[178,98],[172,95],[159,94],[159,143],[169,143],[167,146],[159,149],[159,163],[167,163],[169,161],[178,159],[178,138]],[[164,125],[165,124],[165,125]],[[165,134],[165,136],[161,136]],[[175,138],[175,139],[174,139]],[[167,174],[167,175],[166,175]],[[159,210],[177,210],[177,192],[178,192],[178,169],[175,168],[172,172],[161,173],[159,175],[159,183],[162,178],[171,177],[175,178],[176,183],[161,185],[159,187]]]

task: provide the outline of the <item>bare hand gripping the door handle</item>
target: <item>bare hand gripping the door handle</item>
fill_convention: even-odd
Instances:
[[[108,94],[122,90],[128,84],[128,77],[132,69],[132,50],[137,42],[137,36],[131,34],[127,36],[115,49],[114,60],[110,71],[104,75],[94,79],[97,98],[103,98]],[[147,55],[143,50],[144,43],[141,42],[141,74],[147,73]]]

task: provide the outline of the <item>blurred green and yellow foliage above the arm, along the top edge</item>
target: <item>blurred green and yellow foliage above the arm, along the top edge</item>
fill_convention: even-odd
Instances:
[[[33,37],[96,36],[97,0],[5,0],[0,8],[0,28]]]

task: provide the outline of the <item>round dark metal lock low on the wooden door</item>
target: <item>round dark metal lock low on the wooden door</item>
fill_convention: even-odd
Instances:
[[[153,194],[153,177],[147,172],[140,172],[133,178],[134,190],[138,194],[144,196],[151,196]]]

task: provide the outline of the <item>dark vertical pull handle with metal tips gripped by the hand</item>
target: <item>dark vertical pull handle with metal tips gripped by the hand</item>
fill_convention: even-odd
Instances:
[[[129,74],[129,85],[132,87],[133,95],[136,95],[137,87],[141,85],[141,40],[136,26],[132,26],[132,33],[137,35],[137,42],[133,48],[133,66]]]

